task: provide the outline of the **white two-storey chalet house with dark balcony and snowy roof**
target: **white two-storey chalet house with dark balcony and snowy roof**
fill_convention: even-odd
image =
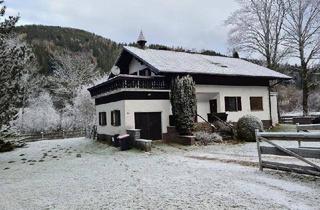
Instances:
[[[139,47],[123,47],[108,80],[89,88],[95,99],[99,138],[141,129],[141,138],[162,139],[169,126],[171,80],[191,75],[196,83],[198,122],[226,113],[236,122],[246,114],[266,126],[278,122],[274,80],[290,77],[242,59],[148,49],[141,33]],[[209,119],[210,120],[210,119]]]

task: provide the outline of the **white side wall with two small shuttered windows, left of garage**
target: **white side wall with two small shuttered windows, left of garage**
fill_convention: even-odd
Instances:
[[[120,110],[121,115],[121,126],[112,126],[111,125],[111,111],[113,110]],[[99,112],[106,112],[107,113],[107,125],[100,126],[99,125]],[[125,134],[125,101],[117,101],[108,104],[102,104],[96,106],[96,125],[97,125],[97,133],[98,134],[108,134],[108,135],[115,135],[115,134]]]

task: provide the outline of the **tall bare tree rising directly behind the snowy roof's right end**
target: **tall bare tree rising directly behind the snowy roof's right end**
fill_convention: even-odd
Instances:
[[[232,26],[229,42],[240,51],[262,55],[267,67],[274,68],[289,52],[282,47],[284,0],[238,0],[226,24]]]

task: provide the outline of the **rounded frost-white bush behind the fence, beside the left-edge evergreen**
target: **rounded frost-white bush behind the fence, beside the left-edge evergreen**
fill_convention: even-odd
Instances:
[[[59,114],[55,110],[49,93],[41,93],[28,101],[29,106],[20,109],[13,128],[21,132],[41,132],[58,129]]]

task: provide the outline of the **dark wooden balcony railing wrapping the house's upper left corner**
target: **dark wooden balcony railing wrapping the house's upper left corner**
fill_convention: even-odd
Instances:
[[[88,90],[94,97],[120,89],[169,90],[169,82],[164,76],[118,75]]]

